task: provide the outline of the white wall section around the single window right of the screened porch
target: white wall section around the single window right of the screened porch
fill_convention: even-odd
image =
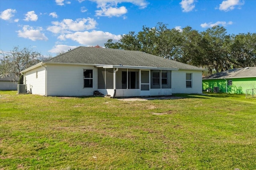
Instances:
[[[192,73],[192,88],[186,88],[186,73]],[[172,71],[172,93],[202,93],[202,71]]]

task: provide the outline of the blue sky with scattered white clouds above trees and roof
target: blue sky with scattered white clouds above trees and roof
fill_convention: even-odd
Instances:
[[[56,56],[78,46],[104,47],[158,22],[168,28],[228,34],[256,32],[256,0],[0,0],[0,49],[29,47]]]

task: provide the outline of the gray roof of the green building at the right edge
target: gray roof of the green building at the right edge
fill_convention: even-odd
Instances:
[[[246,77],[256,77],[256,67],[246,67],[246,68],[234,68],[230,70],[225,70],[210,76],[206,76],[203,79],[223,79],[223,78],[246,78]]]

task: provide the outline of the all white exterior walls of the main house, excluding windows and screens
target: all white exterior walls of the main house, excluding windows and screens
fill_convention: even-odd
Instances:
[[[113,89],[98,89],[98,69],[94,66],[45,64],[26,72],[27,88],[32,94],[47,96],[92,96],[95,90],[104,95],[113,96]],[[93,88],[84,88],[84,69],[93,70]],[[122,70],[117,72],[120,78]],[[36,78],[37,72],[37,78]],[[186,73],[192,74],[192,88],[186,88]],[[46,79],[47,76],[47,79]],[[172,71],[171,89],[151,89],[151,96],[171,95],[175,93],[202,93],[202,71],[174,70]],[[117,89],[116,96],[140,96],[140,89]]]

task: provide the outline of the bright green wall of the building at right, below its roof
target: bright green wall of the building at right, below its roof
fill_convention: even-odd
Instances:
[[[226,81],[227,80],[227,81]],[[220,93],[227,92],[231,94],[246,94],[247,89],[256,88],[256,77],[254,78],[226,78],[224,79],[210,79],[202,80],[203,91],[208,90],[209,88],[213,92],[214,87],[219,88]],[[227,85],[228,80],[232,80],[232,85]]]

